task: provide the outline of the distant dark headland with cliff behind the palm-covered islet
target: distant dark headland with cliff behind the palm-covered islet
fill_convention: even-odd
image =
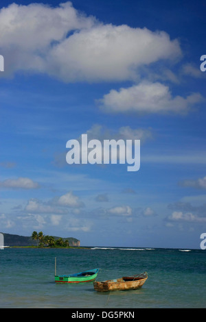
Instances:
[[[5,246],[36,246],[36,240],[32,240],[31,236],[20,236],[20,235],[13,235],[13,234],[5,234],[2,233],[4,236],[4,245]],[[54,236],[55,239],[60,237]],[[80,246],[80,240],[68,237],[62,238],[63,240],[69,241],[69,246]]]

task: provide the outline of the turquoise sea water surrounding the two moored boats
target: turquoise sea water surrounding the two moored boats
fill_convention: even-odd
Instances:
[[[55,284],[56,273],[100,268],[97,280],[148,273],[139,290],[100,293],[93,283]],[[0,308],[206,308],[206,251],[21,249],[0,251]]]

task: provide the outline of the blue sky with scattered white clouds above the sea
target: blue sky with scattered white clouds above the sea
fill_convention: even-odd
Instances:
[[[200,249],[205,12],[201,0],[1,1],[1,232]],[[82,134],[140,140],[139,170],[68,164]]]

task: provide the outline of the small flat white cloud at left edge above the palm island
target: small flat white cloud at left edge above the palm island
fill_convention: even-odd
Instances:
[[[36,189],[39,188],[39,184],[34,182],[28,177],[19,177],[18,179],[5,179],[0,182],[0,186],[3,188],[12,188],[12,189]]]

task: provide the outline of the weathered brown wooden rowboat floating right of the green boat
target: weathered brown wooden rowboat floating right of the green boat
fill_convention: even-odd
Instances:
[[[137,290],[146,282],[148,274],[146,272],[135,276],[124,276],[115,280],[108,280],[103,282],[93,282],[95,290]]]

